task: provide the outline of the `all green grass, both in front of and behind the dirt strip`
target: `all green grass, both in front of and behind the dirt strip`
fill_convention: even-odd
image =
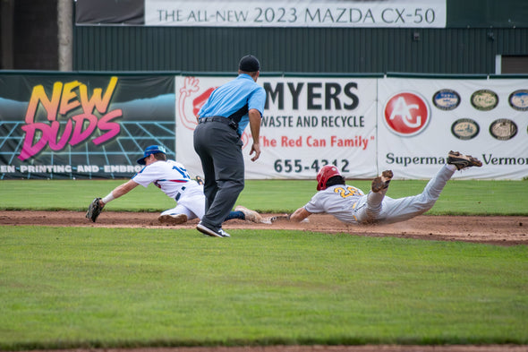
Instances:
[[[2,181],[0,209],[85,210],[122,182]],[[393,181],[389,195],[424,185]],[[430,213],[527,215],[527,189],[451,181]],[[239,203],[291,211],[314,192],[313,181],[248,181]],[[106,211],[172,206],[138,187]],[[0,228],[0,349],[528,344],[526,245],[230,233]]]

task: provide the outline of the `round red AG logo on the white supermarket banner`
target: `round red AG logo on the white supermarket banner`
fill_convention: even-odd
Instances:
[[[383,110],[388,128],[405,137],[421,133],[429,124],[429,106],[425,99],[415,93],[393,95]]]

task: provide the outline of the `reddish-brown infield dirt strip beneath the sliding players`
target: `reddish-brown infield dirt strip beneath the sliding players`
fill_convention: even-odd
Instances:
[[[158,213],[103,211],[96,223],[77,211],[0,211],[2,225],[36,225],[103,228],[195,228],[197,219],[183,225],[166,226],[158,221]],[[264,218],[284,214],[262,214]],[[438,241],[465,241],[492,245],[528,245],[528,217],[427,216],[391,225],[347,225],[332,216],[314,214],[308,222],[292,223],[277,219],[272,224],[256,224],[229,220],[224,229],[296,229],[351,236],[396,236]],[[197,236],[199,233],[197,232]],[[201,236],[201,235],[200,235]]]

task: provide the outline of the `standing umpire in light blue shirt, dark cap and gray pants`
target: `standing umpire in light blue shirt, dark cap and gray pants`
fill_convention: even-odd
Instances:
[[[198,112],[194,150],[205,178],[205,215],[196,227],[208,236],[228,237],[222,222],[233,209],[244,186],[241,136],[250,124],[251,161],[260,157],[260,119],[266,102],[265,90],[257,84],[260,63],[255,56],[243,56],[238,77],[214,90]]]

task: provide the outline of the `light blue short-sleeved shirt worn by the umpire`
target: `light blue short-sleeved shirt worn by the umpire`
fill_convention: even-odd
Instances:
[[[264,113],[266,103],[266,91],[254,82],[249,74],[241,73],[233,81],[221,85],[213,90],[209,99],[200,108],[198,116],[231,116],[240,110],[244,105],[248,105],[248,111],[252,108],[259,110],[260,116]],[[242,135],[243,130],[250,123],[248,114],[242,116],[238,123],[238,134]]]

